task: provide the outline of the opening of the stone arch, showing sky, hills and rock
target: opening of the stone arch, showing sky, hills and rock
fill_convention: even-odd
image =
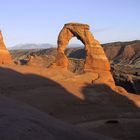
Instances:
[[[76,41],[77,40],[77,41]],[[68,70],[76,73],[82,74],[84,72],[84,65],[86,59],[85,46],[80,39],[73,36],[65,49],[65,55],[68,58]]]

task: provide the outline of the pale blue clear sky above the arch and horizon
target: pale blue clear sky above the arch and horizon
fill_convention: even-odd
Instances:
[[[90,25],[101,43],[140,39],[140,0],[0,0],[0,29],[7,47],[56,44],[65,23]],[[80,43],[72,39],[70,43]]]

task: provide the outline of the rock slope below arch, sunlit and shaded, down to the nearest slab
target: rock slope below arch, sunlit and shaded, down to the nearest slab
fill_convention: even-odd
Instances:
[[[140,138],[140,95],[121,87],[94,84],[95,73],[80,75],[60,67],[3,65],[0,75],[0,94],[6,98],[90,133],[119,140]]]

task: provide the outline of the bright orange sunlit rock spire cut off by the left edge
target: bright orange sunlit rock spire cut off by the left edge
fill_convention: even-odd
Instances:
[[[9,51],[5,47],[3,36],[0,31],[0,65],[1,64],[13,64],[13,61]]]

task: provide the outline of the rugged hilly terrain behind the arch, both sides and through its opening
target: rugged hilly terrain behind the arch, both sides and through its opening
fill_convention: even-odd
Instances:
[[[16,63],[27,64],[32,56],[33,65],[48,67],[57,55],[57,49],[53,45],[21,45],[17,50],[11,50]],[[46,48],[45,48],[45,47]],[[53,47],[51,47],[53,46]],[[133,93],[140,93],[140,41],[113,42],[102,44],[105,53],[111,63],[112,74],[117,85],[125,87]],[[22,48],[22,49],[20,49]],[[70,44],[65,53],[69,58],[69,70],[74,73],[82,73],[86,52],[79,44]]]

